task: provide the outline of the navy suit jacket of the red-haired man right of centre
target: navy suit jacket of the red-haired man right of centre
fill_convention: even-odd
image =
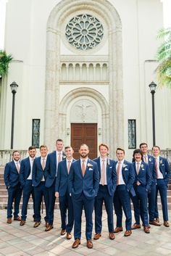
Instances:
[[[97,163],[99,168],[99,181],[101,179],[101,165],[100,157],[93,160]],[[110,196],[114,195],[114,191],[117,188],[117,172],[116,172],[116,162],[114,160],[107,160],[107,189]]]

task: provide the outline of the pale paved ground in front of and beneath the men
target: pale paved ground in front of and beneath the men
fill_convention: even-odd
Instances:
[[[171,219],[171,211],[169,212]],[[162,212],[160,212],[162,220]],[[114,216],[114,223],[115,223]],[[86,247],[85,218],[83,214],[83,238],[77,249],[72,249],[71,240],[60,236],[59,210],[55,210],[54,229],[44,231],[44,221],[38,228],[33,228],[32,210],[28,210],[28,220],[25,226],[18,221],[6,223],[6,210],[0,210],[0,256],[161,256],[171,255],[171,227],[151,226],[151,233],[145,234],[143,229],[133,231],[133,234],[124,237],[124,232],[116,234],[116,239],[108,239],[107,215],[103,215],[103,231],[101,239],[93,241],[93,249]],[[170,223],[171,224],[171,223]],[[125,227],[124,227],[125,228]]]

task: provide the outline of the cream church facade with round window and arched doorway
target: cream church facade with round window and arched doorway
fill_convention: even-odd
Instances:
[[[152,146],[149,83],[157,83],[157,31],[163,27],[159,0],[49,0],[7,3],[5,50],[14,57],[1,81],[0,148],[10,148],[12,93],[14,149],[56,139],[90,147],[109,144],[128,158],[144,141]],[[171,144],[167,88],[155,94],[156,141]]]

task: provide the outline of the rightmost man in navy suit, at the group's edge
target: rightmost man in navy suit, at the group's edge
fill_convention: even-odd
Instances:
[[[159,212],[157,208],[157,194],[159,191],[161,201],[162,201],[162,212],[163,212],[163,220],[164,226],[169,227],[170,224],[168,222],[168,210],[167,210],[167,184],[170,180],[170,166],[167,162],[167,159],[164,157],[160,157],[160,149],[159,146],[153,146],[152,148],[153,155],[155,157],[155,168],[157,173],[157,191],[156,191],[156,203],[155,203],[155,218],[159,221]]]

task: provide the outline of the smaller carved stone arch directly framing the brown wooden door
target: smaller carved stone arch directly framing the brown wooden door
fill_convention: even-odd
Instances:
[[[104,96],[92,88],[78,88],[73,91],[70,91],[64,96],[62,102],[59,104],[59,124],[60,131],[59,137],[64,138],[65,131],[67,128],[67,115],[68,115],[68,106],[73,102],[74,99],[79,99],[81,96],[86,96],[89,99],[93,99],[98,104],[101,109],[101,129],[103,131],[101,139],[109,144],[109,133],[107,129],[109,128],[109,104]]]

